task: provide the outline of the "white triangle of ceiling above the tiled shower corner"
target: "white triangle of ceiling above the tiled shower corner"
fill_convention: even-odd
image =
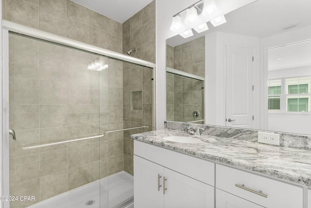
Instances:
[[[125,22],[152,0],[72,0],[118,22]]]

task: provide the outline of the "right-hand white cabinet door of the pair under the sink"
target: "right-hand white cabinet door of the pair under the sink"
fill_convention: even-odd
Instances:
[[[164,168],[165,208],[214,208],[214,187]]]

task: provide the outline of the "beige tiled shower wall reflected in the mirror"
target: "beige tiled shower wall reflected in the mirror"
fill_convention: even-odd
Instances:
[[[166,46],[166,65],[183,72],[205,77],[205,37],[197,38],[181,45]],[[198,110],[201,120],[202,85],[201,81],[179,75],[167,74],[167,120],[192,121],[192,112]]]

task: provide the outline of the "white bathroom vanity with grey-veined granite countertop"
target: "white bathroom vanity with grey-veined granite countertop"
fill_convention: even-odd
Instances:
[[[311,207],[310,150],[170,129],[132,138],[137,208]]]

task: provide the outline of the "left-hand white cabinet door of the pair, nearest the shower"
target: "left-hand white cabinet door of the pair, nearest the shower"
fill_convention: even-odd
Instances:
[[[163,208],[163,167],[134,155],[134,198],[135,208]]]

